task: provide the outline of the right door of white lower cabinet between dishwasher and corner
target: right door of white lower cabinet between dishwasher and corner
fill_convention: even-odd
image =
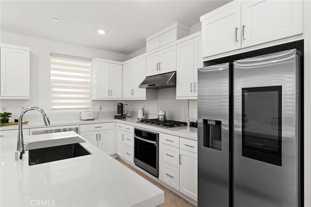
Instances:
[[[98,148],[103,150],[108,155],[115,154],[114,152],[114,129],[98,131]]]

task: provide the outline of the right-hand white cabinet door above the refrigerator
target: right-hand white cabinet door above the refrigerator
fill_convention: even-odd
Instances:
[[[243,2],[242,48],[302,34],[302,4],[302,0]]]

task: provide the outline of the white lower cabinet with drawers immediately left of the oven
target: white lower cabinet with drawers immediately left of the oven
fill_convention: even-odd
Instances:
[[[134,163],[134,127],[122,123],[117,127],[117,155]]]

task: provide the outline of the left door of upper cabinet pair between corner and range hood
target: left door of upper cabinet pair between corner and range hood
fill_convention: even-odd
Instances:
[[[133,98],[134,62],[123,65],[123,98]]]

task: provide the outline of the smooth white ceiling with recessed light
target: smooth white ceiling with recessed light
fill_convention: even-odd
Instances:
[[[145,38],[180,22],[192,26],[200,16],[229,0],[1,0],[1,31],[129,54]],[[58,18],[58,22],[52,21]],[[104,29],[106,34],[96,31]]]

